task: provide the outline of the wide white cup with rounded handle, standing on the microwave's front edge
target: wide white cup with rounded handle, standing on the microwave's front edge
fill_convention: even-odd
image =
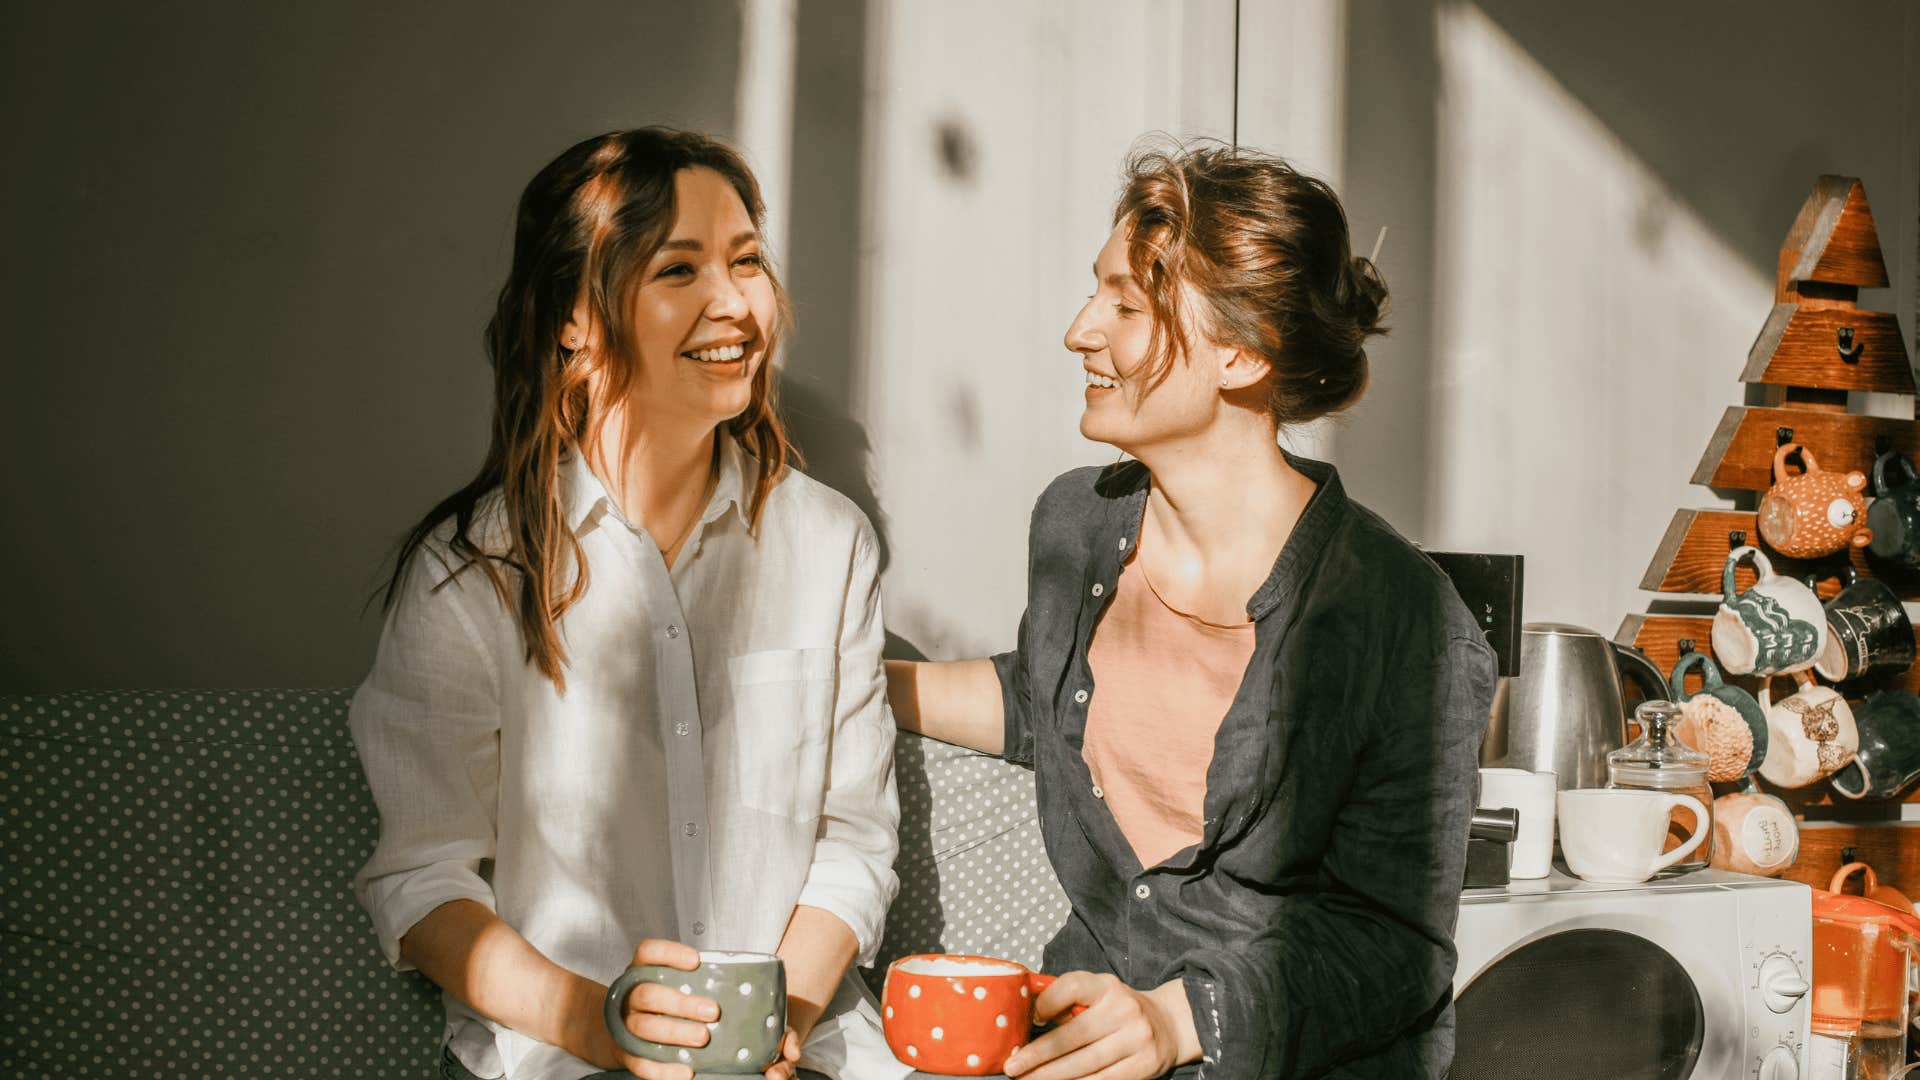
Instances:
[[[1693,811],[1693,834],[1661,853],[1678,807]],[[1686,859],[1707,840],[1707,807],[1678,792],[1576,788],[1559,794],[1561,851],[1567,869],[1590,882],[1634,884]]]

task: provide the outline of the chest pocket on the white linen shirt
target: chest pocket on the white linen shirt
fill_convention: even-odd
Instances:
[[[768,650],[726,667],[739,801],[793,821],[818,819],[833,732],[833,650]]]

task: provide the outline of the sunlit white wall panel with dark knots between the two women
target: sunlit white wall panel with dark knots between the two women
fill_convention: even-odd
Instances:
[[[1233,4],[876,4],[862,363],[887,623],[933,657],[1012,646],[1027,515],[1116,452],[1079,436],[1062,336],[1121,161],[1148,131],[1229,136]]]

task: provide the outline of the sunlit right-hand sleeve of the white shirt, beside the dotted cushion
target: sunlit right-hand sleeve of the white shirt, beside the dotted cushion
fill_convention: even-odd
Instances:
[[[893,780],[893,713],[879,661],[885,646],[879,546],[864,521],[847,580],[828,792],[799,903],[845,922],[858,940],[854,963],[866,967],[879,951],[887,907],[899,890],[893,857],[900,849],[900,801]]]

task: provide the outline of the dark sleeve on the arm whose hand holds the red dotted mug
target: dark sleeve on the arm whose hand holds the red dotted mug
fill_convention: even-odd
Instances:
[[[1334,824],[1329,886],[1288,897],[1250,944],[1188,953],[1202,1076],[1319,1076],[1446,1007],[1492,696],[1484,640],[1453,638],[1409,665]]]

